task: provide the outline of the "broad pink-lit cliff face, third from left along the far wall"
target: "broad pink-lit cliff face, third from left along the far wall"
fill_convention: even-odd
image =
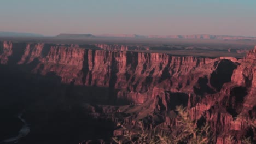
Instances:
[[[43,75],[53,71],[62,77],[62,82],[71,82],[83,67],[84,53],[84,49],[51,46],[48,54],[39,59],[40,62],[32,71]]]

